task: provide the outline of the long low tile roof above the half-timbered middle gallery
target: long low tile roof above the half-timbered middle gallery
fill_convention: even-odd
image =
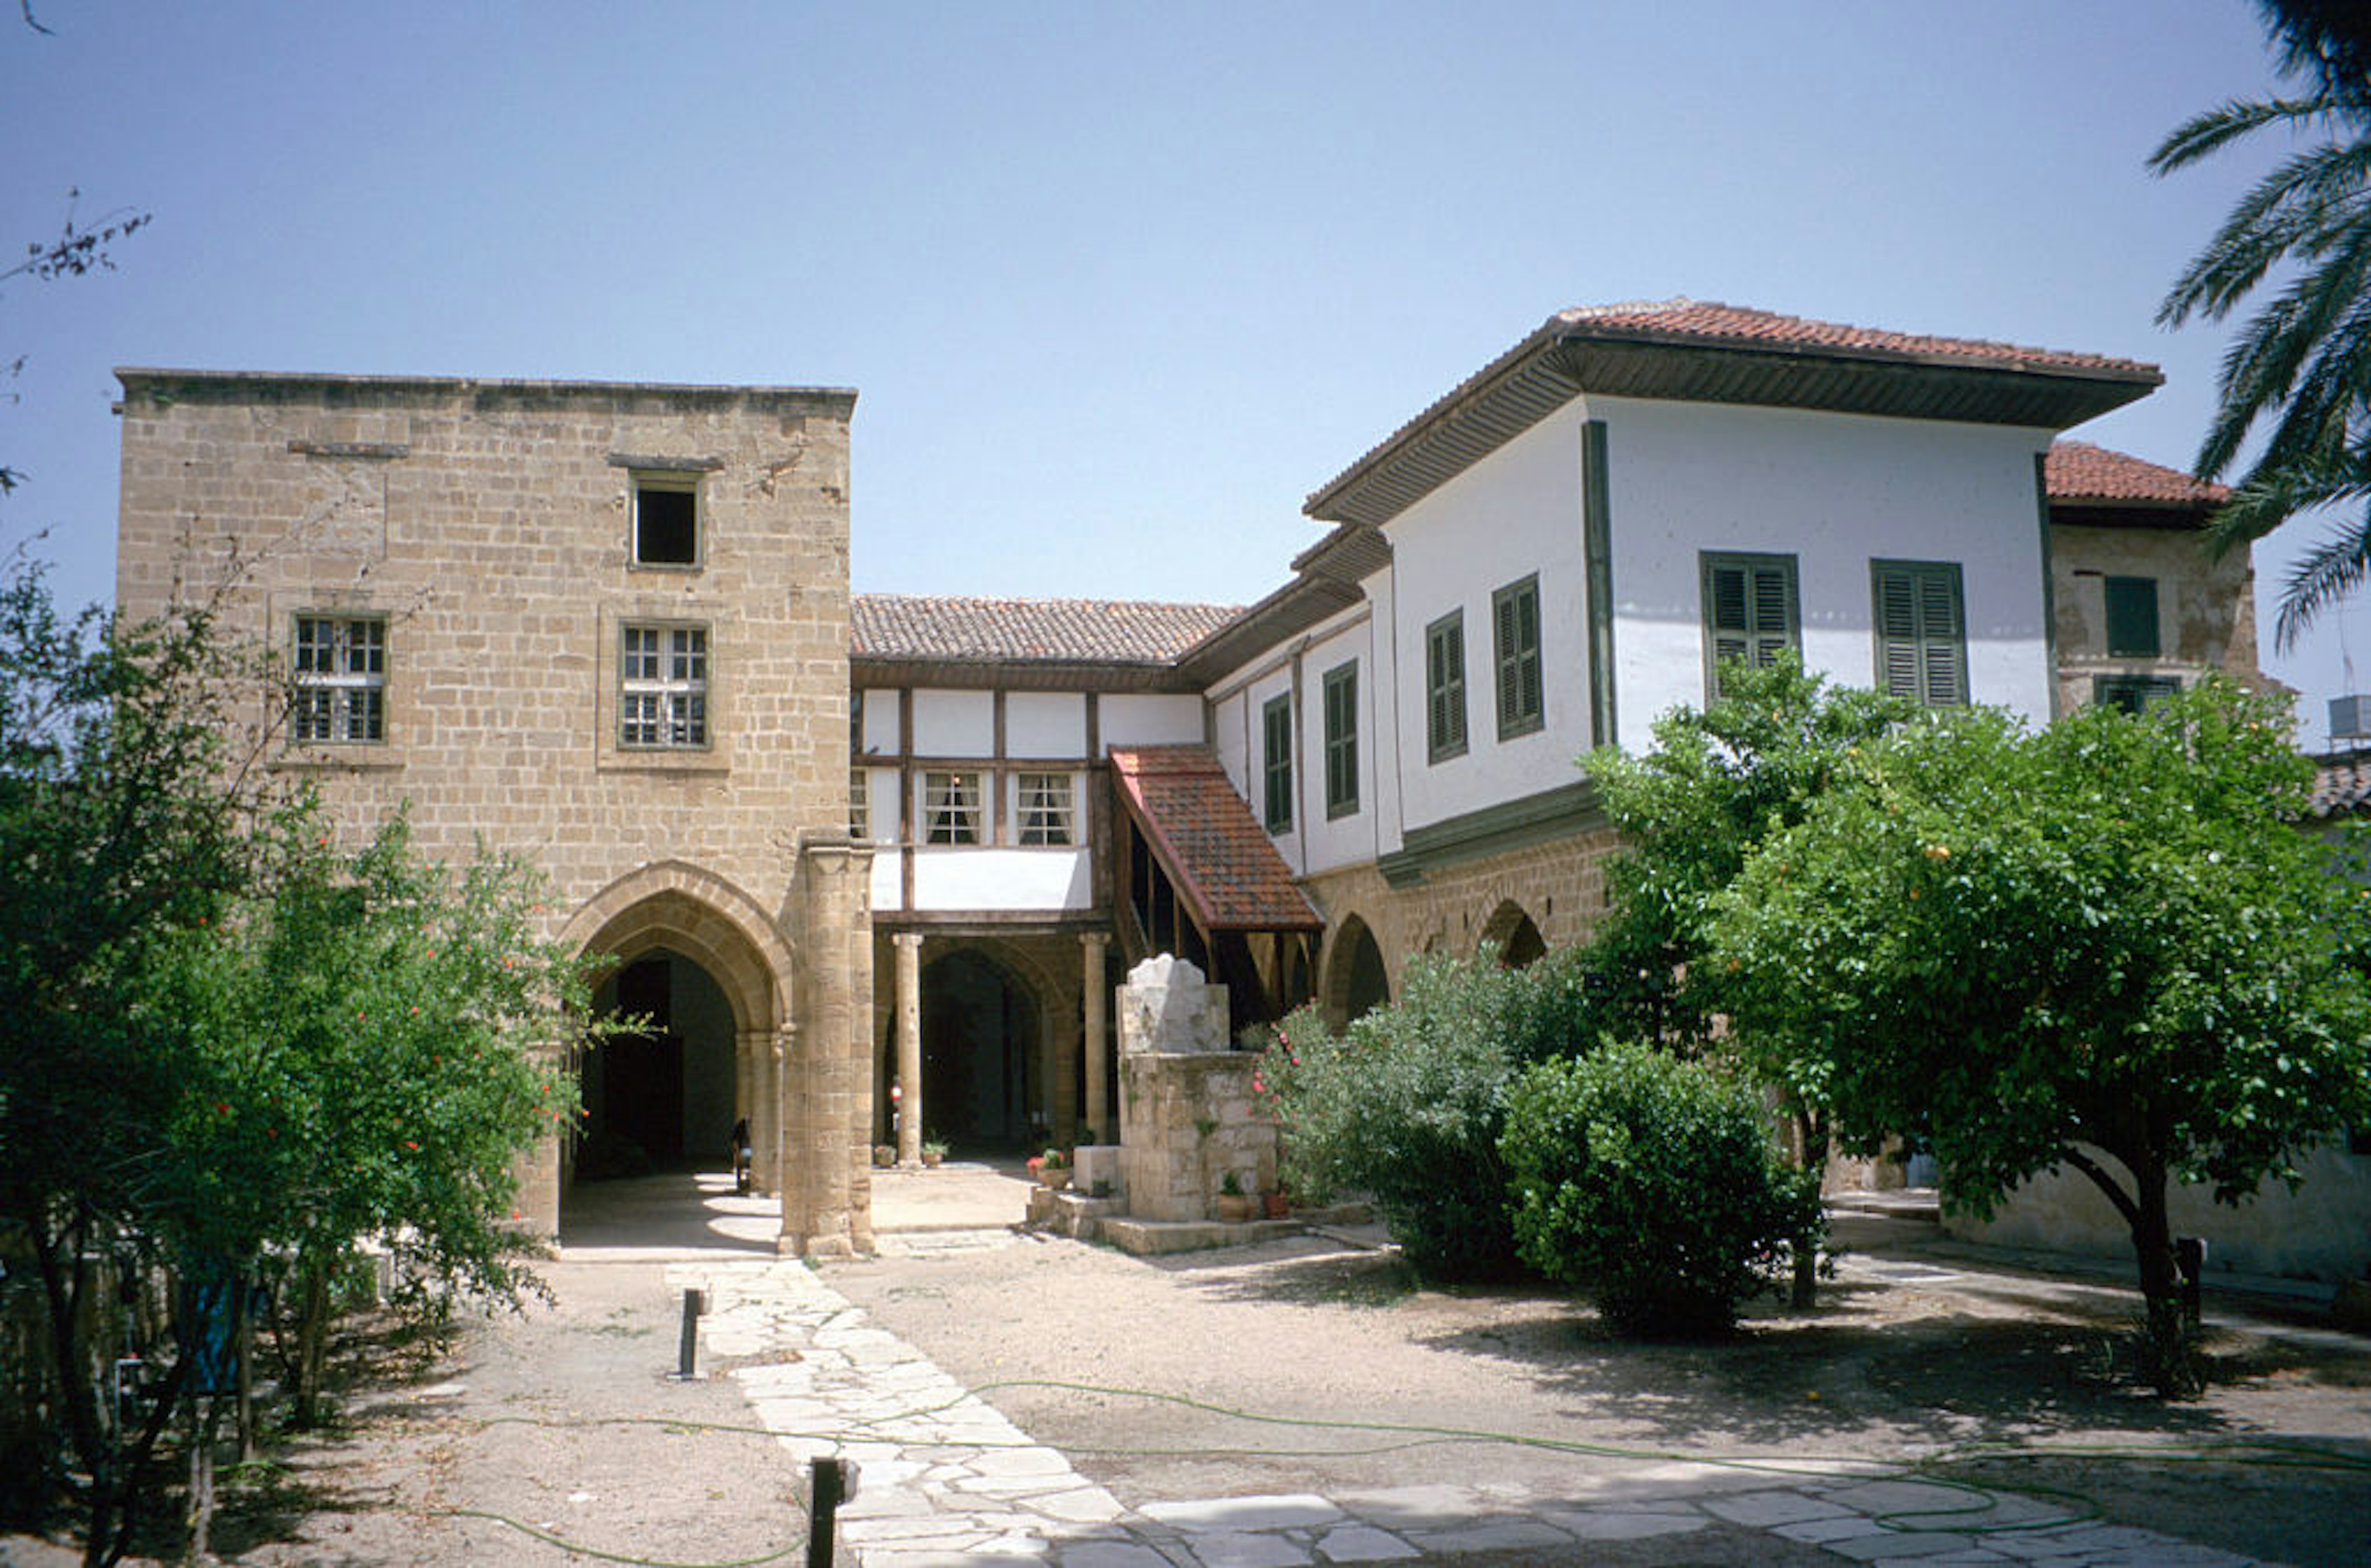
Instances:
[[[1098,598],[858,593],[858,659],[1167,664],[1238,614],[1231,605]]]

